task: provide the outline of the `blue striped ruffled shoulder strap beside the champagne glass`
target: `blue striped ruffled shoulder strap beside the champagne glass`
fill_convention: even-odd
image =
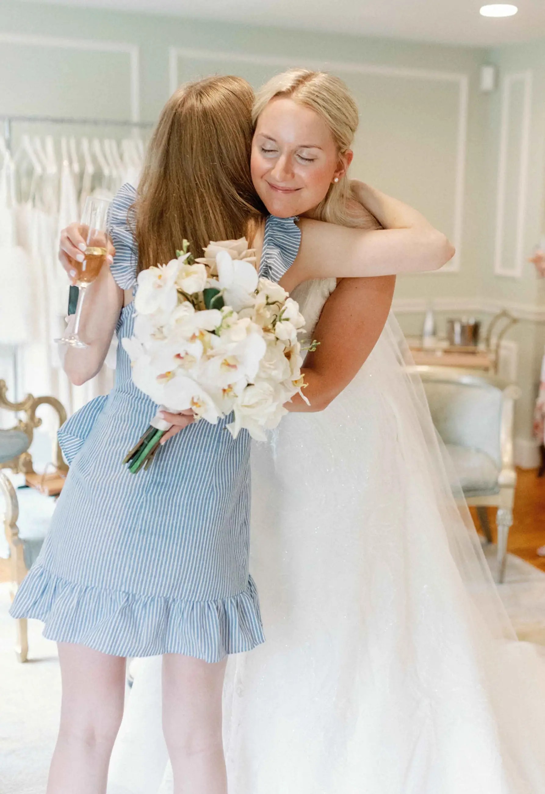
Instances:
[[[132,233],[134,218],[129,217],[135,201],[136,190],[126,183],[117,191],[108,210],[107,229],[116,249],[110,270],[122,290],[128,290],[136,283],[138,247]]]

